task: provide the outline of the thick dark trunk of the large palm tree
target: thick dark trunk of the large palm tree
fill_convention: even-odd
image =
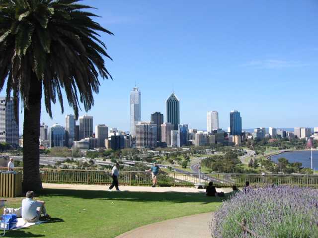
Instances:
[[[30,82],[29,108],[24,108],[23,121],[23,190],[39,191],[40,179],[40,117],[41,117],[42,82],[33,75]]]

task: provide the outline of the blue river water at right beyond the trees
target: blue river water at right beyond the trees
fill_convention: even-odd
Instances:
[[[300,162],[303,164],[304,168],[311,168],[311,160],[310,160],[311,151],[291,151],[284,152],[279,155],[271,156],[272,161],[277,162],[279,158],[284,157],[288,159],[290,163]],[[315,170],[318,170],[318,151],[313,151],[313,166]]]

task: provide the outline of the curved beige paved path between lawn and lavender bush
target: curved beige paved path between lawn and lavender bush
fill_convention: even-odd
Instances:
[[[212,213],[180,217],[139,227],[116,238],[211,238]]]

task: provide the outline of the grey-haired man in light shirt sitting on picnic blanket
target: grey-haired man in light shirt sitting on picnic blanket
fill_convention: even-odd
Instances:
[[[42,218],[48,219],[50,216],[46,213],[44,201],[34,201],[34,192],[27,191],[26,198],[22,200],[22,218],[26,222],[38,222],[41,214]]]

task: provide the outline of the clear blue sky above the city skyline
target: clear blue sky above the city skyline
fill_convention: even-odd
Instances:
[[[241,113],[243,128],[318,126],[317,0],[83,3],[97,7],[102,17],[96,20],[115,34],[102,34],[114,80],[101,80],[88,112],[94,124],[129,130],[136,82],[143,120],[164,113],[173,88],[181,123],[190,128],[205,129],[212,110],[224,129],[231,110]],[[61,115],[56,105],[51,120],[42,108],[41,121],[49,126],[64,124],[72,113],[66,104]]]

